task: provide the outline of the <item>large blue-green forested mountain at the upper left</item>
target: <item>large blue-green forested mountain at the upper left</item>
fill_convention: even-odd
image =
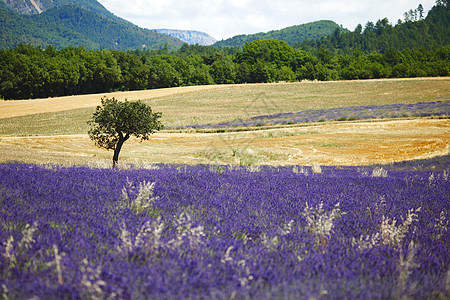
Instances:
[[[140,28],[120,19],[95,0],[65,0],[80,3],[86,8],[74,4],[56,5],[64,0],[54,0],[55,5],[51,8],[48,8],[50,5],[44,5],[51,0],[14,2],[24,2],[28,5],[21,7],[10,7],[4,1],[0,1],[0,48],[14,48],[20,43],[30,43],[43,47],[53,45],[55,48],[83,46],[94,50],[134,50],[161,49],[165,45],[177,49],[183,44],[179,39]],[[28,3],[33,3],[32,7],[43,12],[32,14],[32,7]],[[27,7],[29,14],[16,12],[26,11]]]

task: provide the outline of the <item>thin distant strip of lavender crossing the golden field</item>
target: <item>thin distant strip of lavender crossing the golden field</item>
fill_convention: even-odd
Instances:
[[[420,102],[416,104],[391,104],[350,106],[320,110],[304,110],[296,113],[277,113],[234,120],[219,124],[190,125],[191,128],[219,128],[230,126],[265,126],[274,124],[297,124],[321,121],[346,121],[399,117],[448,116],[450,101]]]

